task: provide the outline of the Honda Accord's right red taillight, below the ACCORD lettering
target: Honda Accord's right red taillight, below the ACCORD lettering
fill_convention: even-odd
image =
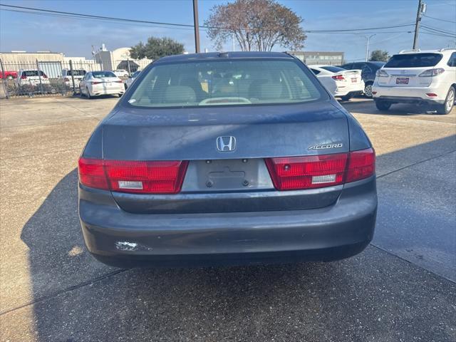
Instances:
[[[375,173],[372,148],[333,155],[266,158],[277,190],[304,190],[354,182]]]

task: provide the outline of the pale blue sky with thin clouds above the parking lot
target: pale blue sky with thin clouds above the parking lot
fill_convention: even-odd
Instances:
[[[456,0],[424,0],[427,4],[423,24],[456,34]],[[305,30],[372,28],[412,24],[418,0],[278,0],[303,19]],[[227,1],[199,0],[199,24],[202,25],[213,6]],[[113,16],[123,19],[193,24],[192,0],[0,0],[0,4],[28,6],[81,14]],[[452,21],[452,22],[451,22]],[[343,51],[346,61],[363,60],[366,36],[370,50],[397,53],[412,48],[413,26],[361,33],[308,33],[305,51]],[[383,33],[380,33],[382,32]],[[92,47],[105,43],[109,50],[133,46],[149,36],[171,37],[184,43],[185,50],[195,51],[192,28],[158,27],[150,24],[126,24],[90,19],[68,19],[55,16],[0,11],[0,51],[53,51],[66,56],[91,57]],[[201,49],[214,51],[204,30],[200,31]],[[456,39],[420,32],[421,49],[455,47]],[[239,49],[239,46],[236,46]],[[224,46],[232,50],[232,43]],[[276,51],[286,48],[277,47]]]

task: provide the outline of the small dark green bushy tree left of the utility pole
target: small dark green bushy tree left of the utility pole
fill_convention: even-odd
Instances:
[[[184,44],[172,38],[150,37],[147,39],[147,43],[140,42],[132,46],[130,56],[135,59],[149,58],[155,61],[164,56],[177,55],[183,52]]]

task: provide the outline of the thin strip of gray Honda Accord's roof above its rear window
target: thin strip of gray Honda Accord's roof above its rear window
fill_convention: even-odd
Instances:
[[[158,59],[154,63],[171,63],[183,61],[208,61],[214,59],[236,59],[236,58],[286,58],[294,59],[293,56],[284,52],[264,52],[264,51],[232,51],[232,52],[207,52],[207,53],[187,53],[182,55],[166,56]]]

